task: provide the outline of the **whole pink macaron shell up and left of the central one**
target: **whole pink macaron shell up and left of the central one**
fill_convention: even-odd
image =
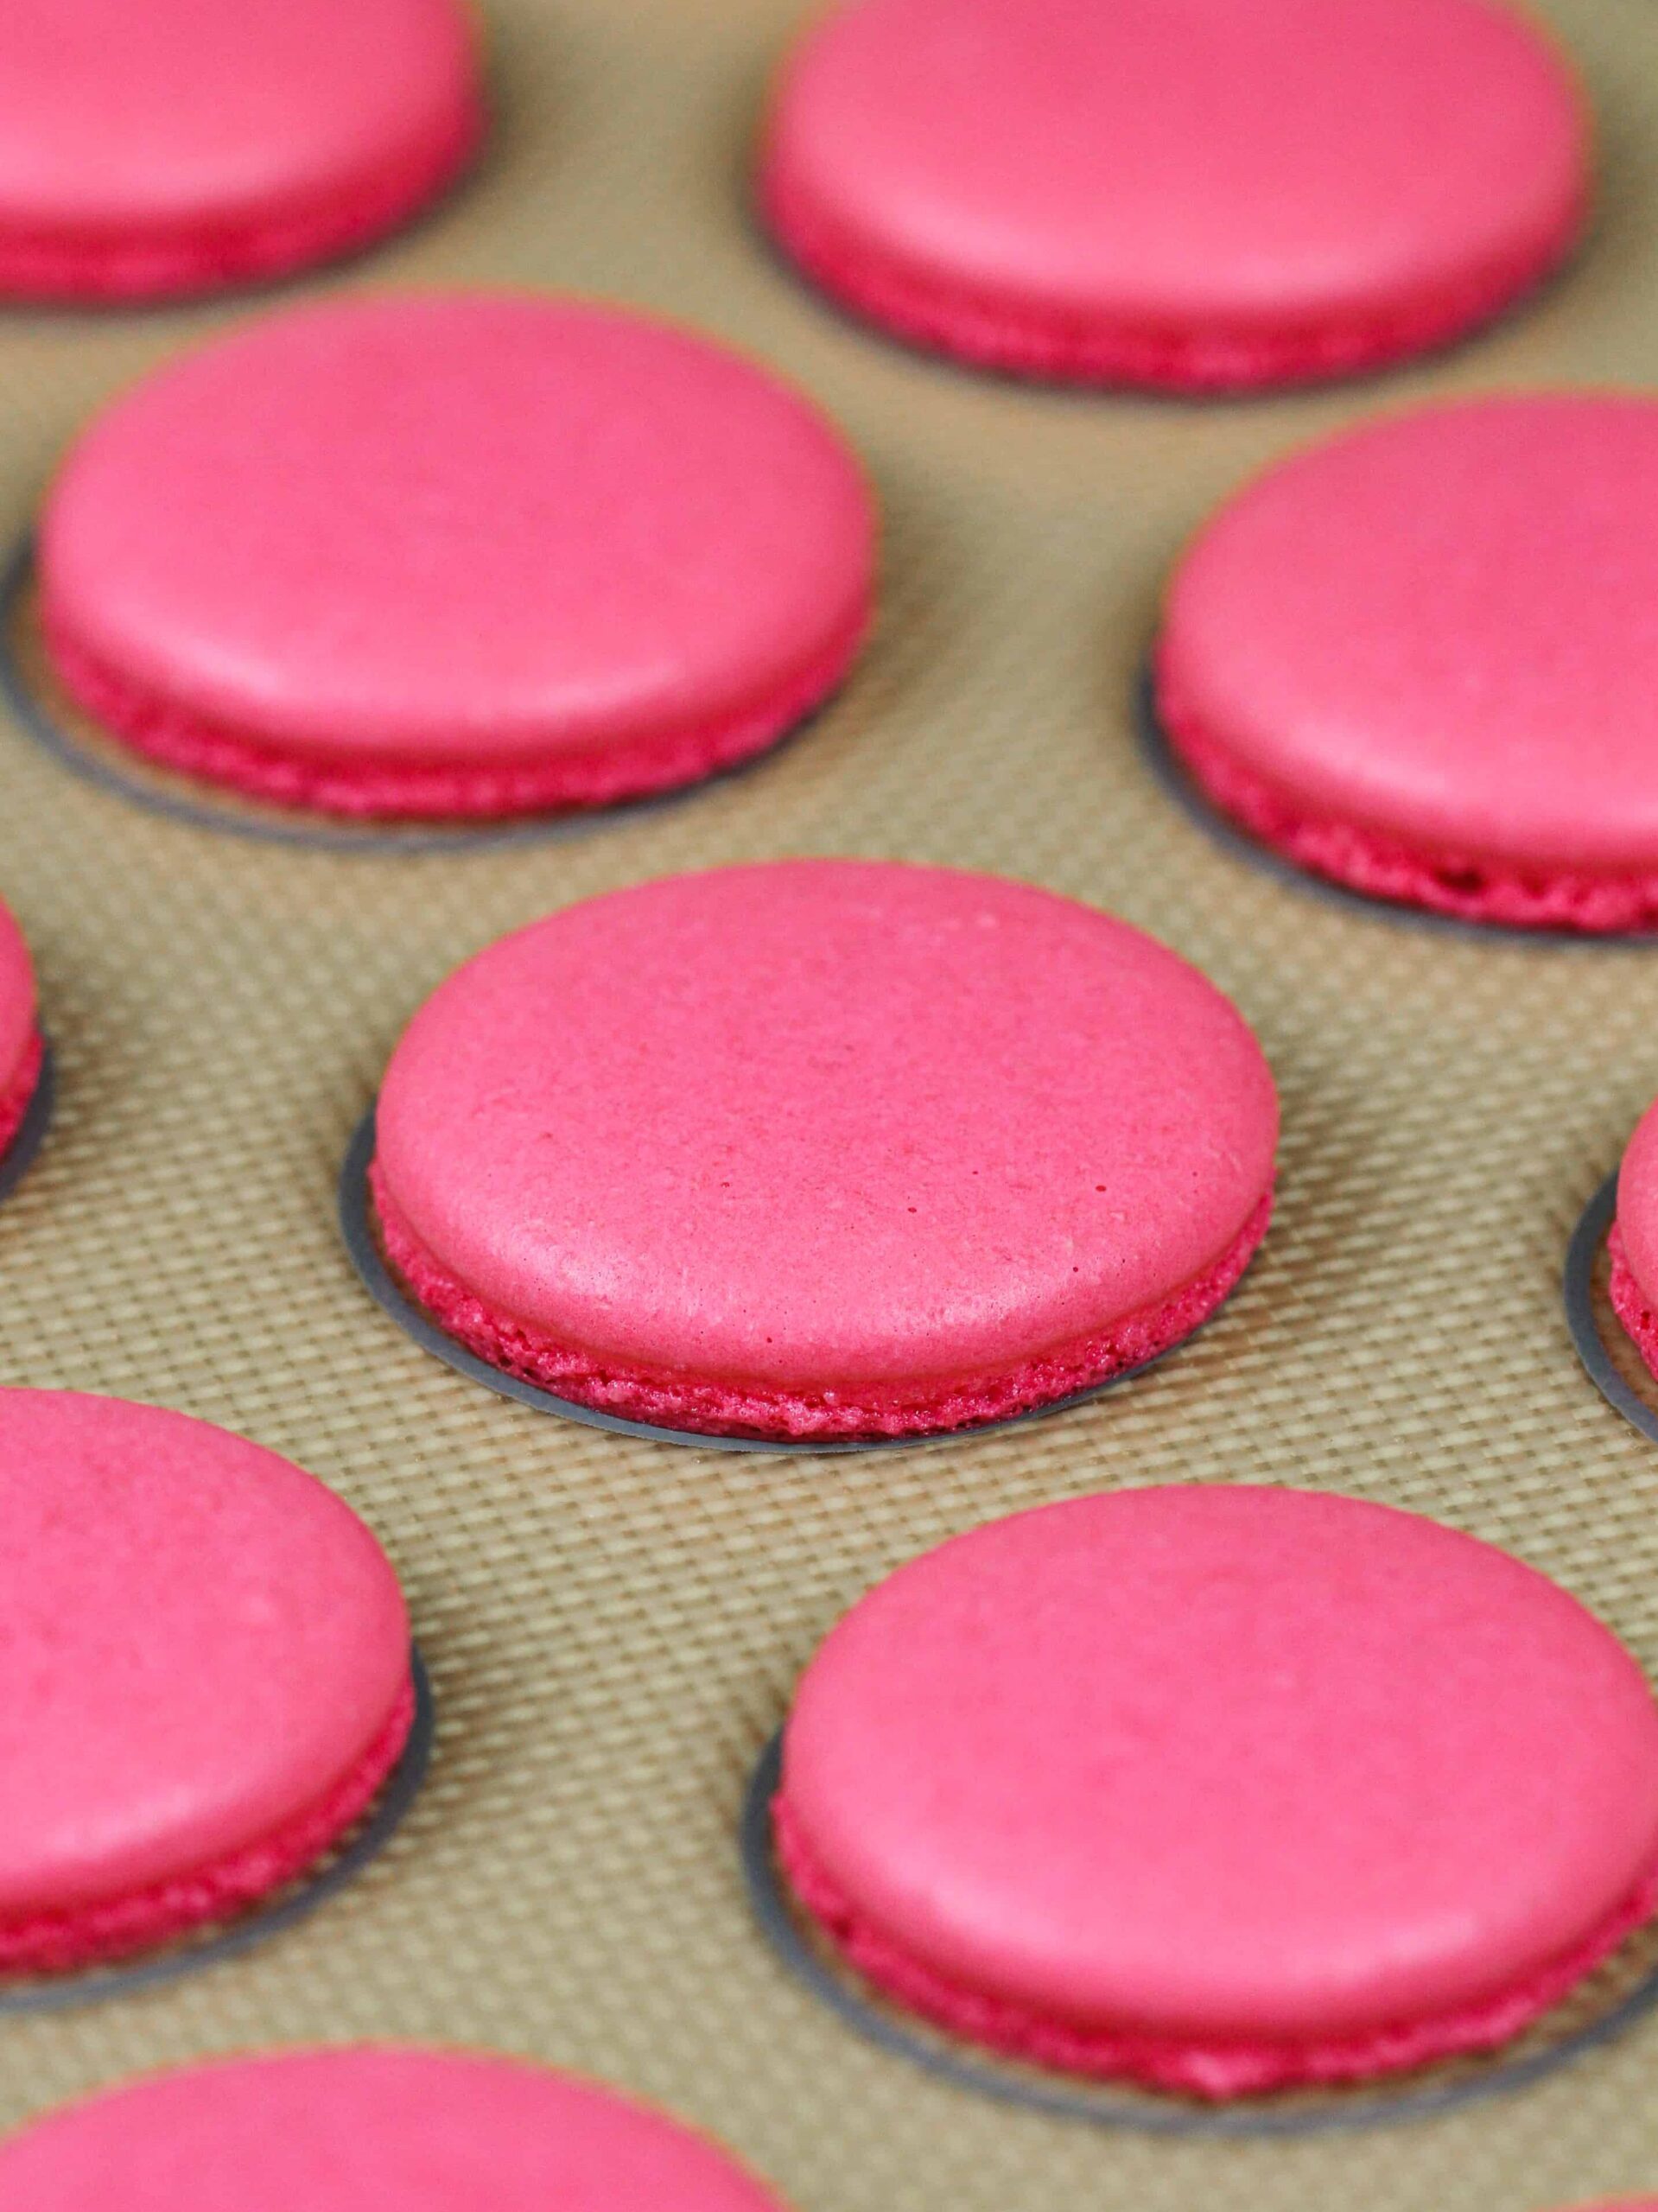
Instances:
[[[847,675],[875,518],[765,369],[612,307],[374,294],[172,361],[40,522],[55,675],[150,761],[340,816],[692,783]]]

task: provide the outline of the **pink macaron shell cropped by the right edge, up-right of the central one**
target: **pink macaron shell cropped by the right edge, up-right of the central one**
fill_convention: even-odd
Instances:
[[[1198,533],[1156,714],[1249,836],[1470,922],[1658,922],[1658,403],[1366,422]]]

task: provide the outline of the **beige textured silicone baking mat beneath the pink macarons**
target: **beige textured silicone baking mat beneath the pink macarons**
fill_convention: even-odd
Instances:
[[[469,852],[168,821],[0,719],[0,889],[57,1051],[55,1126],[0,1210],[0,1374],[181,1407],[338,1486],[407,1579],[438,1697],[427,1792],[351,1889],[166,1989],[0,2022],[0,2124],[199,2053],[407,2035],[630,2084],[800,2212],[1543,2212],[1658,2188],[1658,2020],[1391,2128],[1094,2128],[856,2035],[758,1936],[736,1851],[754,1761],[831,1619],[922,1546],[1096,1486],[1302,1482],[1435,1513],[1563,1577],[1658,1674],[1658,1447],[1578,1367],[1559,1290],[1572,1225],[1658,1091],[1658,945],[1424,931],[1311,896],[1209,841],[1134,723],[1161,577],[1260,462],[1428,394],[1651,380],[1658,7],[1554,15],[1601,113],[1581,261],[1408,374],[1194,407],[955,372],[776,263],[745,166],[791,0],[493,0],[480,173],[323,285],[566,285],[794,374],[869,456],[880,633],[844,697],[752,774]],[[108,392],[263,305],[0,319],[0,520],[22,535]],[[365,1296],[334,1179],[420,998],[548,907],[791,852],[1026,876],[1234,993],[1282,1084],[1282,1203],[1194,1345],[948,1449],[747,1458],[515,1407]]]

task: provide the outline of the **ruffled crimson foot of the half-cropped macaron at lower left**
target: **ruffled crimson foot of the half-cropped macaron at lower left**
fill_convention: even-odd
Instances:
[[[409,1677],[391,1717],[358,1763],[316,1803],[259,1843],[126,1898],[0,1922],[0,1973],[66,1973],[150,1951],[214,1920],[230,1920],[285,1889],[327,1856],[391,1778],[416,1721]]]

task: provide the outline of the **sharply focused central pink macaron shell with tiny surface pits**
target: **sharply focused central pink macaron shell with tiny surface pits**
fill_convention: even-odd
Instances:
[[[1278,1102],[1196,969],[953,869],[787,860],[489,947],[387,1068],[374,1212],[480,1358],[668,1429],[1052,1405],[1227,1296]]]

